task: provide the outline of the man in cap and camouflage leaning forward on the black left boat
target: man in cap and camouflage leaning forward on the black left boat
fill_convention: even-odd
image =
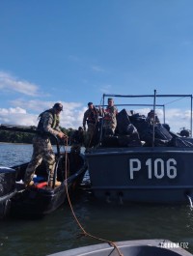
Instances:
[[[59,128],[60,119],[59,114],[63,110],[61,103],[55,103],[51,109],[45,110],[39,116],[39,124],[37,130],[40,131],[33,138],[33,155],[29,162],[24,178],[24,185],[34,185],[33,177],[36,168],[41,164],[43,160],[46,165],[46,171],[48,174],[48,186],[52,187],[55,168],[55,154],[52,150],[51,142],[48,133],[58,136],[61,139],[67,138],[67,135]],[[61,185],[56,181],[55,185]]]

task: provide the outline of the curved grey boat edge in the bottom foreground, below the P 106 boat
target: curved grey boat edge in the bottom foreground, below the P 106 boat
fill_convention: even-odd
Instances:
[[[115,242],[116,247],[109,243],[99,243],[78,247],[47,256],[191,256],[185,250],[185,242],[175,243],[165,240],[139,240]]]

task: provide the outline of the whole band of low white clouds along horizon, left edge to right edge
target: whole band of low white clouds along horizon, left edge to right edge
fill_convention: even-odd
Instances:
[[[87,107],[80,102],[66,102],[59,100],[64,110],[61,112],[61,126],[63,128],[78,128],[82,126],[84,112]],[[21,126],[37,126],[38,116],[45,109],[51,108],[55,101],[42,100],[13,100],[13,107],[0,108],[0,124]],[[121,110],[121,109],[120,109]],[[150,108],[135,109],[134,111],[147,116]],[[163,110],[157,109],[156,113],[163,123]],[[190,128],[190,111],[178,108],[167,109],[165,123],[172,131],[179,132],[180,128]]]

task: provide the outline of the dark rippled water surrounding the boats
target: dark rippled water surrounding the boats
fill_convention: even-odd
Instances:
[[[0,143],[0,165],[28,161],[32,145]],[[188,243],[193,253],[193,211],[186,206],[111,205],[80,192],[72,207],[84,229],[104,240],[165,239]],[[38,220],[0,221],[1,256],[45,256],[61,250],[99,243],[81,237],[81,230],[66,203]]]

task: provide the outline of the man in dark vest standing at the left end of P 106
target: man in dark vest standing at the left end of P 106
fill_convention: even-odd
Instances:
[[[88,103],[88,109],[84,113],[83,117],[83,128],[86,130],[87,124],[87,133],[85,138],[85,147],[89,148],[93,144],[94,135],[96,132],[96,126],[98,122],[98,110],[94,106],[93,102]]]

